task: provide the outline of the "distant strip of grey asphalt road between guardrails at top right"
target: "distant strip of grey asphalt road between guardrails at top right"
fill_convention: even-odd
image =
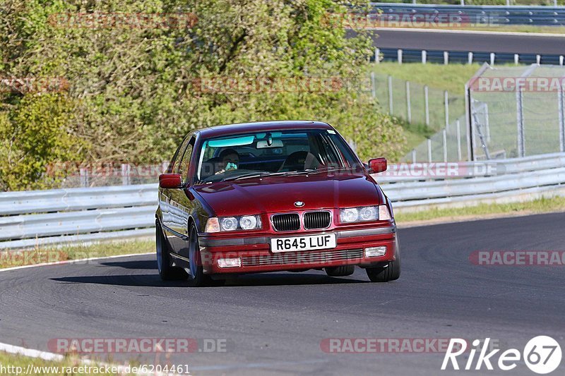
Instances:
[[[564,54],[565,37],[476,32],[375,30],[379,48],[484,51],[510,54]]]

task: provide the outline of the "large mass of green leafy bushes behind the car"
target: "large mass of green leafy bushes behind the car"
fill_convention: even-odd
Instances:
[[[328,12],[348,11],[340,4],[331,0],[4,0],[0,76],[64,77],[69,89],[49,95],[16,91],[0,97],[2,150],[26,156],[14,164],[13,157],[4,159],[7,154],[1,154],[1,187],[33,186],[53,161],[161,162],[192,129],[244,121],[328,121],[356,143],[363,159],[400,157],[405,142],[400,125],[381,113],[367,90],[359,90],[372,54],[370,35],[346,37],[342,25],[328,22]],[[359,1],[357,6],[367,2]],[[57,17],[64,18],[61,14],[93,12],[191,12],[198,22],[172,28],[57,23]],[[335,77],[347,85],[328,92],[196,90],[199,78],[210,77]],[[56,116],[48,115],[48,104],[54,106]],[[39,112],[25,115],[30,111]],[[45,126],[40,133],[22,131],[37,130],[40,123]],[[35,145],[39,135],[42,151],[30,154],[25,145]],[[20,174],[26,178],[18,179]]]

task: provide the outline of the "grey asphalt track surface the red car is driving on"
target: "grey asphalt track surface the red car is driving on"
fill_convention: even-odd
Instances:
[[[359,269],[345,278],[281,272],[190,289],[160,281],[150,256],[0,272],[0,341],[47,350],[56,338],[225,339],[223,353],[172,356],[192,375],[535,375],[523,361],[506,372],[441,372],[444,353],[326,353],[320,344],[490,337],[523,351],[545,334],[563,347],[564,267],[485,267],[469,255],[565,250],[564,222],[560,213],[401,229],[403,272],[388,284],[369,283]]]

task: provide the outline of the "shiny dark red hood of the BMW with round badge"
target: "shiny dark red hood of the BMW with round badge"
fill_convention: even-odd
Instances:
[[[218,217],[381,205],[380,188],[364,174],[268,176],[197,186],[196,193]],[[295,202],[304,202],[296,207]]]

